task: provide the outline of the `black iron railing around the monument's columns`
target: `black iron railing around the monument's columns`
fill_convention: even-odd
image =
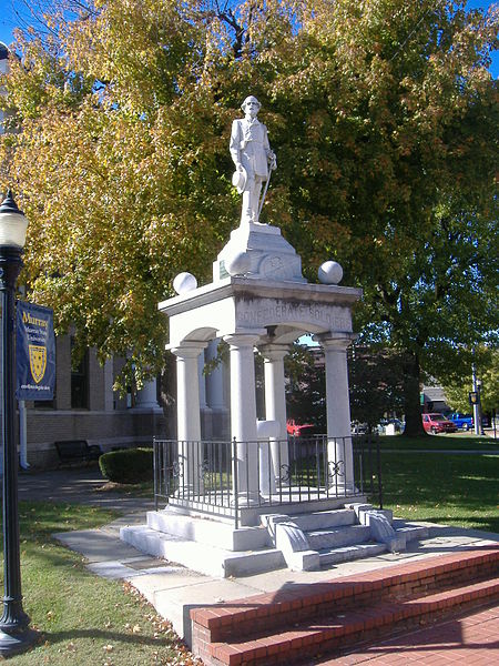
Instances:
[[[381,506],[379,447],[370,437],[291,437],[264,442],[154,440],[154,498],[233,516],[368,494]]]

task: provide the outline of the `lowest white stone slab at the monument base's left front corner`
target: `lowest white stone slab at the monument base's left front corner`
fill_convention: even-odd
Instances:
[[[275,548],[234,553],[187,538],[151,529],[145,525],[122,527],[120,538],[142,553],[175,562],[207,576],[248,576],[286,566]]]

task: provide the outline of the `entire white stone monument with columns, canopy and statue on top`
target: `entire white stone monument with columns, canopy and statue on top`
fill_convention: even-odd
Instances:
[[[233,182],[243,195],[240,225],[213,264],[212,283],[197,286],[194,276],[182,273],[175,280],[177,295],[159,304],[170,321],[167,349],[176,356],[177,440],[169,444],[177,458],[177,491],[166,508],[147,515],[142,532],[122,529],[122,538],[151,554],[222,576],[285,563],[317,568],[319,551],[337,543],[338,528],[327,538],[322,534],[314,547],[307,526],[319,525],[323,533],[337,521],[357,521],[364,534],[374,534],[373,526],[384,519],[364,504],[354,478],[347,347],[355,339],[352,307],[361,291],[339,286],[343,271],[333,261],[319,268],[319,284],[307,283],[301,258],[281,230],[259,221],[276,159],[257,120],[259,102],[249,95],[243,109],[245,118],[234,121],[230,143]],[[295,487],[302,482],[293,475],[284,480],[283,468],[291,466],[284,359],[305,333],[324,350],[327,434],[316,480],[304,495],[302,485]],[[210,458],[213,443],[201,438],[198,364],[214,340],[228,345],[231,441],[216,444],[223,455]],[[256,414],[255,349],[264,357],[265,421]],[[228,461],[223,473],[215,458]],[[326,470],[323,476],[319,466]],[[230,485],[222,488],[224,480]],[[393,529],[386,527],[383,539],[376,552],[395,543]],[[327,562],[334,561],[329,555]]]

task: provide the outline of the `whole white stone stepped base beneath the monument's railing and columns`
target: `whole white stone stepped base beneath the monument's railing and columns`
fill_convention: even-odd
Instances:
[[[404,551],[425,538],[426,527],[393,521],[391,513],[352,503],[333,511],[284,515],[268,513],[261,524],[193,517],[166,508],[147,513],[147,524],[122,527],[120,537],[139,551],[192,571],[225,578],[288,567],[317,571],[342,562]]]

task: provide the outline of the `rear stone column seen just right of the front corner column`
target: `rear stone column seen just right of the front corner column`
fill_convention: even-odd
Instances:
[[[289,453],[286,430],[286,393],[284,384],[284,357],[288,345],[266,344],[259,347],[264,357],[265,418],[278,421],[278,438],[271,438],[272,466],[276,487],[289,485]],[[281,481],[284,476],[285,481]]]

